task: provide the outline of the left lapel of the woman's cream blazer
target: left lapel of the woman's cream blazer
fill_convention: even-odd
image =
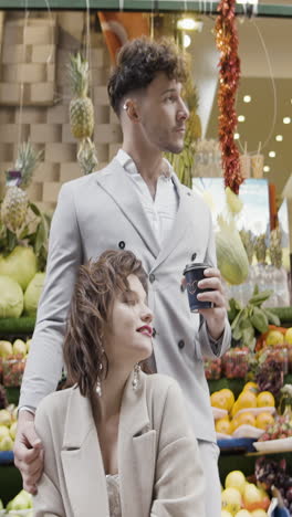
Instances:
[[[106,481],[91,403],[77,389],[69,401],[61,460],[74,517],[90,516],[94,510],[108,517]]]

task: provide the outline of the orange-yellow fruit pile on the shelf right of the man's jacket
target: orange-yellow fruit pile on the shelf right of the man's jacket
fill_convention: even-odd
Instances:
[[[268,425],[274,422],[269,411],[262,411],[258,415],[249,411],[253,408],[274,407],[273,394],[270,391],[259,393],[255,382],[248,382],[237,400],[234,400],[232,391],[225,388],[215,391],[210,397],[210,401],[213,408],[228,411],[226,416],[216,421],[215,428],[218,433],[232,434],[236,429],[243,424],[265,430]]]

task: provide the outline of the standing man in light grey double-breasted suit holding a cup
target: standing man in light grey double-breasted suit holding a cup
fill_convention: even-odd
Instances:
[[[209,209],[180,184],[163,158],[164,151],[184,148],[189,115],[181,98],[185,80],[184,60],[169,42],[138,39],[124,45],[108,83],[123,129],[122,149],[105,169],[61,189],[14,446],[23,486],[32,493],[42,469],[34,411],[61,376],[65,320],[79,265],[106,249],[128,249],[143,261],[149,277],[153,366],[175,378],[185,393],[205,467],[206,515],[220,516],[218,447],[202,357],[215,358],[228,349],[230,327]],[[201,309],[201,319],[190,313],[181,283],[186,264],[195,258],[211,266],[201,287],[212,291],[199,298],[212,302],[213,308]]]

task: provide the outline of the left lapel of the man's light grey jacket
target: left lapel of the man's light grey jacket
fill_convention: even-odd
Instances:
[[[96,173],[96,181],[115,201],[119,210],[138,232],[145,245],[156,258],[160,247],[155,233],[144,212],[131,179],[118,162],[113,161],[103,171]]]

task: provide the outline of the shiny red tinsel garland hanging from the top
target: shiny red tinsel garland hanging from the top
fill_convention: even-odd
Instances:
[[[216,20],[216,43],[221,53],[219,62],[219,141],[222,152],[225,184],[238,194],[243,181],[240,171],[239,150],[233,134],[237,127],[236,94],[240,77],[238,32],[236,27],[236,0],[221,0]]]

